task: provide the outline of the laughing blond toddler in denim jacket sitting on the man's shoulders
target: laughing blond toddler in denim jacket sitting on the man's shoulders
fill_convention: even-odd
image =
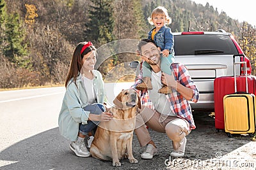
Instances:
[[[166,27],[166,24],[172,22],[169,17],[166,8],[159,6],[152,11],[151,17],[148,17],[148,22],[154,24],[155,27],[148,32],[148,39],[152,39],[156,42],[159,50],[162,51],[161,56],[161,71],[167,74],[172,74],[170,65],[174,61],[173,50],[173,34],[170,27]],[[143,83],[137,85],[136,89],[145,90],[152,89],[151,84],[151,67],[147,62],[143,62]],[[172,92],[172,89],[163,85],[163,88],[159,89],[159,93],[168,94]]]

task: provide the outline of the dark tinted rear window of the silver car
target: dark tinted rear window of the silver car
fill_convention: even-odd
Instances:
[[[234,55],[237,49],[230,36],[191,34],[174,36],[175,55]]]

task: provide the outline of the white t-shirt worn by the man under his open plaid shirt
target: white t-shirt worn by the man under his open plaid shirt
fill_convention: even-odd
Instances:
[[[170,103],[167,101],[165,94],[158,92],[158,90],[162,88],[161,71],[158,73],[154,73],[154,71],[152,71],[151,83],[152,90],[148,90],[148,95],[154,105],[155,110],[163,115],[176,117],[170,108]]]

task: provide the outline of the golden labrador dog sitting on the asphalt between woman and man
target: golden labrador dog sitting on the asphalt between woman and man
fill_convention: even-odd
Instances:
[[[122,90],[113,101],[109,112],[113,118],[100,122],[90,148],[92,157],[112,160],[113,166],[121,166],[120,159],[127,157],[130,163],[138,163],[132,155],[132,136],[140,98],[135,90]]]

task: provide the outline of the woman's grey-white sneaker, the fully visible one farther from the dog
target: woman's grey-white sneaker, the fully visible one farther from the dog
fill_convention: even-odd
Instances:
[[[77,139],[76,142],[72,141],[69,145],[70,150],[76,153],[77,157],[90,157],[91,153],[88,152],[83,139]]]

